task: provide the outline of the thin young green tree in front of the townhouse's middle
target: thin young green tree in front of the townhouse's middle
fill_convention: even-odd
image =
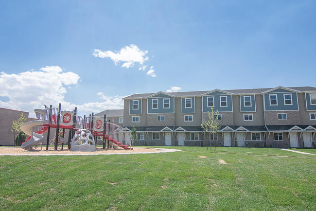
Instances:
[[[209,132],[210,136],[211,134],[216,134],[219,129],[219,122],[218,122],[218,110],[214,112],[214,108],[211,107],[212,111],[208,111],[208,120],[203,119],[203,123],[201,124],[201,127],[206,131]],[[207,142],[207,140],[206,140]],[[212,148],[211,148],[212,150]],[[215,140],[215,148],[214,151],[216,151],[216,140]]]

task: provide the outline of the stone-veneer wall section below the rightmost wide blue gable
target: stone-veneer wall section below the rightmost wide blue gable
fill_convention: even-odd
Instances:
[[[286,120],[278,120],[278,113],[286,113]],[[265,111],[266,125],[299,125],[299,111]]]

